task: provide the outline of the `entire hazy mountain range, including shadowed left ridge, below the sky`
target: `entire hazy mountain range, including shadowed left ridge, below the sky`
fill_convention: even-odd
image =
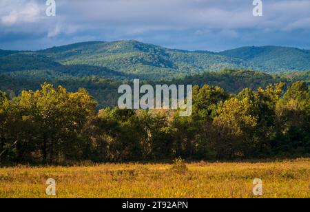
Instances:
[[[224,68],[261,72],[310,70],[310,50],[240,47],[225,52],[172,50],[138,41],[92,41],[37,52],[0,50],[0,73],[99,76],[147,80],[180,78]]]

